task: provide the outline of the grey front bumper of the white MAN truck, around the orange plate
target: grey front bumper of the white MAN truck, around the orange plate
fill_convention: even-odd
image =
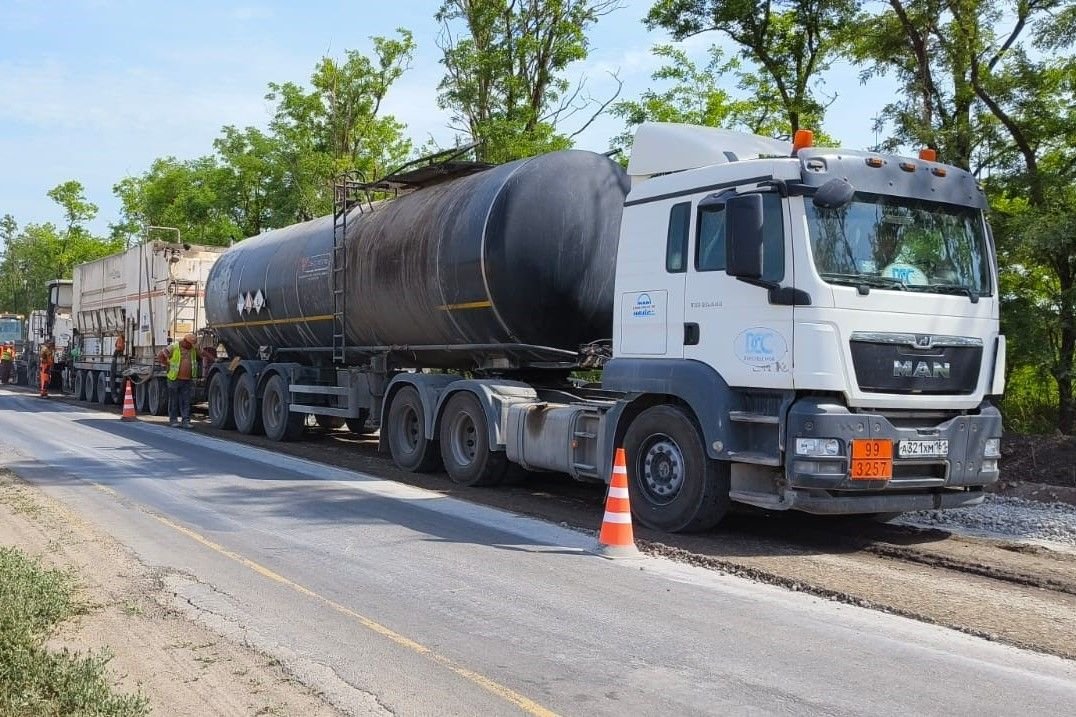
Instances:
[[[887,417],[853,413],[825,399],[806,398],[789,410],[785,441],[785,500],[808,512],[883,512],[972,505],[982,500],[982,487],[997,480],[997,462],[983,461],[986,441],[1002,435],[1002,417],[991,404],[972,413],[942,420],[914,413]],[[836,456],[795,455],[796,438],[836,438]],[[852,480],[849,445],[853,438],[945,439],[949,451],[939,458],[893,459],[888,480]],[[992,462],[992,464],[991,464]]]

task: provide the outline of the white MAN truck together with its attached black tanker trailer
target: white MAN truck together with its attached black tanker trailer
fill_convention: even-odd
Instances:
[[[210,271],[214,425],[380,428],[401,468],[465,484],[608,481],[622,447],[636,519],[665,531],[733,503],[967,506],[997,479],[987,203],[929,154],[646,124],[626,173],[449,157],[337,199]]]

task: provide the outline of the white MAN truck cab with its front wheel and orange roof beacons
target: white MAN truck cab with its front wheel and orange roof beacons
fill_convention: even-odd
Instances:
[[[656,124],[628,173],[603,386],[629,396],[615,442],[643,522],[703,528],[726,491],[816,514],[981,502],[1005,339],[969,173]]]

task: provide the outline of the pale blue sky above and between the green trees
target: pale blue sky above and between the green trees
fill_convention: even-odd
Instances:
[[[396,27],[411,29],[419,48],[385,111],[408,125],[416,144],[449,142],[449,116],[436,101],[439,4],[0,0],[0,214],[19,225],[58,222],[45,193],[75,179],[100,207],[91,228],[103,234],[117,219],[118,180],[156,157],[209,154],[224,125],[264,127],[269,82],[305,83],[321,57],[367,51],[370,36]],[[624,81],[622,97],[637,97],[659,66],[649,48],[668,41],[641,23],[652,0],[623,4],[594,28],[590,57],[571,68],[597,97],[612,90],[610,70]],[[702,58],[714,42],[721,38],[708,33],[686,47]],[[863,87],[854,69],[837,67],[826,92],[837,95],[826,131],[845,146],[872,144],[870,116],[892,96],[892,83]],[[599,118],[577,146],[605,151],[621,130],[620,121]]]

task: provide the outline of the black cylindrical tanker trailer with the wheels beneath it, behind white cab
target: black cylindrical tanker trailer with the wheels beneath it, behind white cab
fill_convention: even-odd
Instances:
[[[334,215],[246,239],[213,266],[206,310],[226,354],[207,374],[210,420],[277,440],[309,414],[380,428],[404,468],[443,459],[458,482],[496,482],[504,409],[581,400],[570,374],[612,335],[628,178],[607,156],[567,151],[358,188],[405,193],[356,201],[344,187]],[[563,430],[590,435],[593,418]],[[600,480],[586,451],[571,473]],[[552,467],[530,459],[515,462]]]

